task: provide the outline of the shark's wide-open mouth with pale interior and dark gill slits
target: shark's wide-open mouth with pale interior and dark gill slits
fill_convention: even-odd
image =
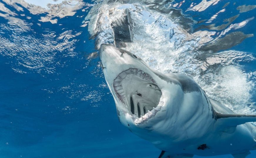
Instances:
[[[121,72],[115,78],[113,87],[118,99],[137,119],[155,109],[162,95],[155,80],[149,74],[136,68]]]

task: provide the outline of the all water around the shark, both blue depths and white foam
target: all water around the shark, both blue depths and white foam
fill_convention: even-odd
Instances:
[[[114,42],[113,8],[131,11],[126,50],[162,73],[190,75],[236,113],[256,114],[255,5],[1,0],[1,157],[158,157],[118,121],[101,71],[97,47]]]

